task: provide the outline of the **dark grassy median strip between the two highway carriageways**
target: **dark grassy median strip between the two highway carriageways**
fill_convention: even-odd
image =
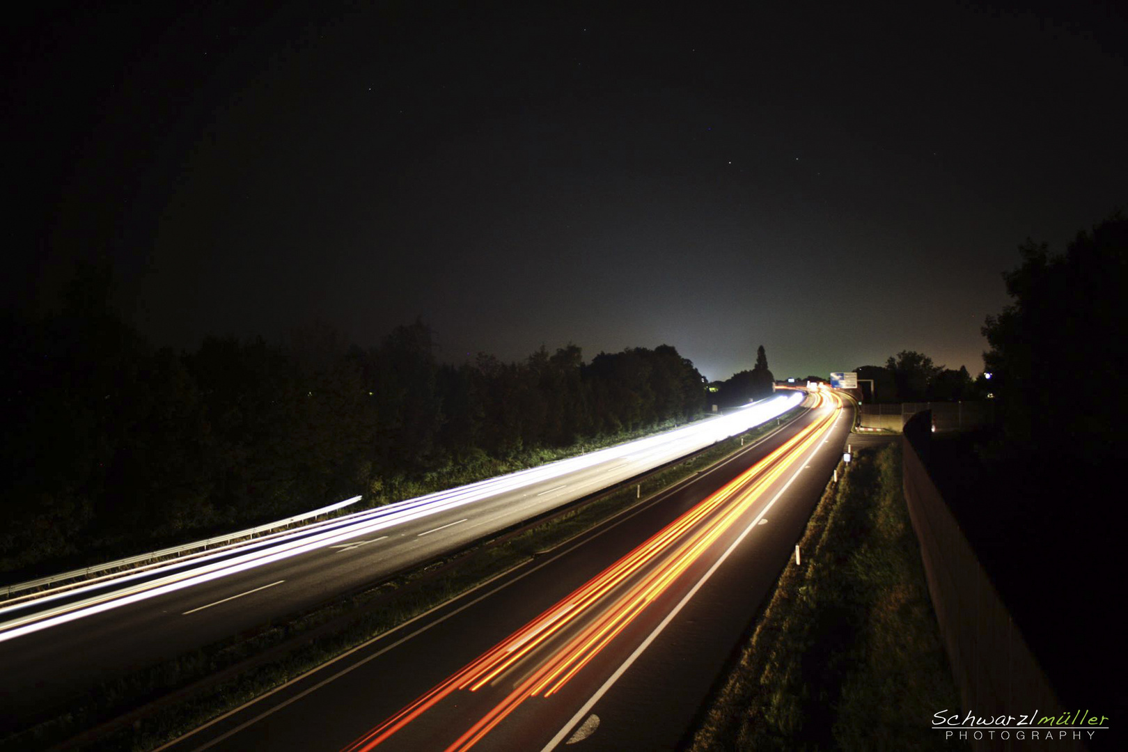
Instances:
[[[802,413],[717,442],[588,502],[323,607],[95,688],[0,750],[150,750],[558,547],[747,446]],[[153,698],[158,698],[153,700]]]

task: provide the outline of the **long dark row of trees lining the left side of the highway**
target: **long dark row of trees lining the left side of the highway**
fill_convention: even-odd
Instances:
[[[416,321],[369,348],[315,327],[285,345],[208,338],[177,353],[112,311],[109,282],[108,268],[82,266],[60,312],[3,313],[0,570],[356,494],[385,503],[705,407],[702,375],[668,345],[449,365]]]

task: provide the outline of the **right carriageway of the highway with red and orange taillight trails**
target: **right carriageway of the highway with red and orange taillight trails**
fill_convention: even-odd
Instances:
[[[848,428],[841,410],[813,410],[614,527],[175,749],[537,750],[593,725],[590,749],[673,749],[788,557]]]

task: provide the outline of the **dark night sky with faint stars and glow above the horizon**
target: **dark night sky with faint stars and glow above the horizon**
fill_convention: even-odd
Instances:
[[[187,350],[422,316],[452,362],[977,374],[1017,245],[1128,206],[1112,3],[451,5],[7,19],[5,300],[108,257]]]

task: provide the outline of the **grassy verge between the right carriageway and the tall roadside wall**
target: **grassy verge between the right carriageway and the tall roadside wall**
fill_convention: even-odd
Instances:
[[[688,749],[951,750],[933,714],[959,707],[919,547],[900,448],[839,467]]]

